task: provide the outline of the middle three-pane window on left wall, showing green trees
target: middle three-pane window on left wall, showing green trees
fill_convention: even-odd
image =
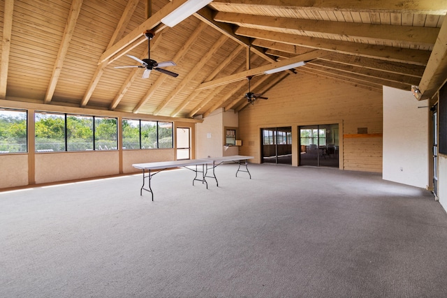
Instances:
[[[36,112],[36,152],[117,149],[117,119]]]

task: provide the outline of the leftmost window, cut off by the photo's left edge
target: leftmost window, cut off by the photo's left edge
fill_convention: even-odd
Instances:
[[[0,110],[0,153],[27,152],[27,112]]]

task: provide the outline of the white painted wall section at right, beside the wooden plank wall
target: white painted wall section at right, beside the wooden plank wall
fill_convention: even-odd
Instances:
[[[411,91],[383,87],[383,179],[420,188],[429,185],[427,105]]]

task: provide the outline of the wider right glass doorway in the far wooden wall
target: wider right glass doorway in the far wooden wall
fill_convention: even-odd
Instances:
[[[300,165],[339,167],[338,124],[300,126]]]

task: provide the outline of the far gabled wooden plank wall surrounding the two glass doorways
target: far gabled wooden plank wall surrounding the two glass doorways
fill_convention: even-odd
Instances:
[[[240,154],[255,156],[254,163],[261,163],[261,128],[292,126],[293,160],[298,161],[298,126],[342,124],[340,168],[382,171],[381,92],[305,75],[298,68],[297,75],[289,75],[264,96],[269,99],[257,100],[239,114]]]

